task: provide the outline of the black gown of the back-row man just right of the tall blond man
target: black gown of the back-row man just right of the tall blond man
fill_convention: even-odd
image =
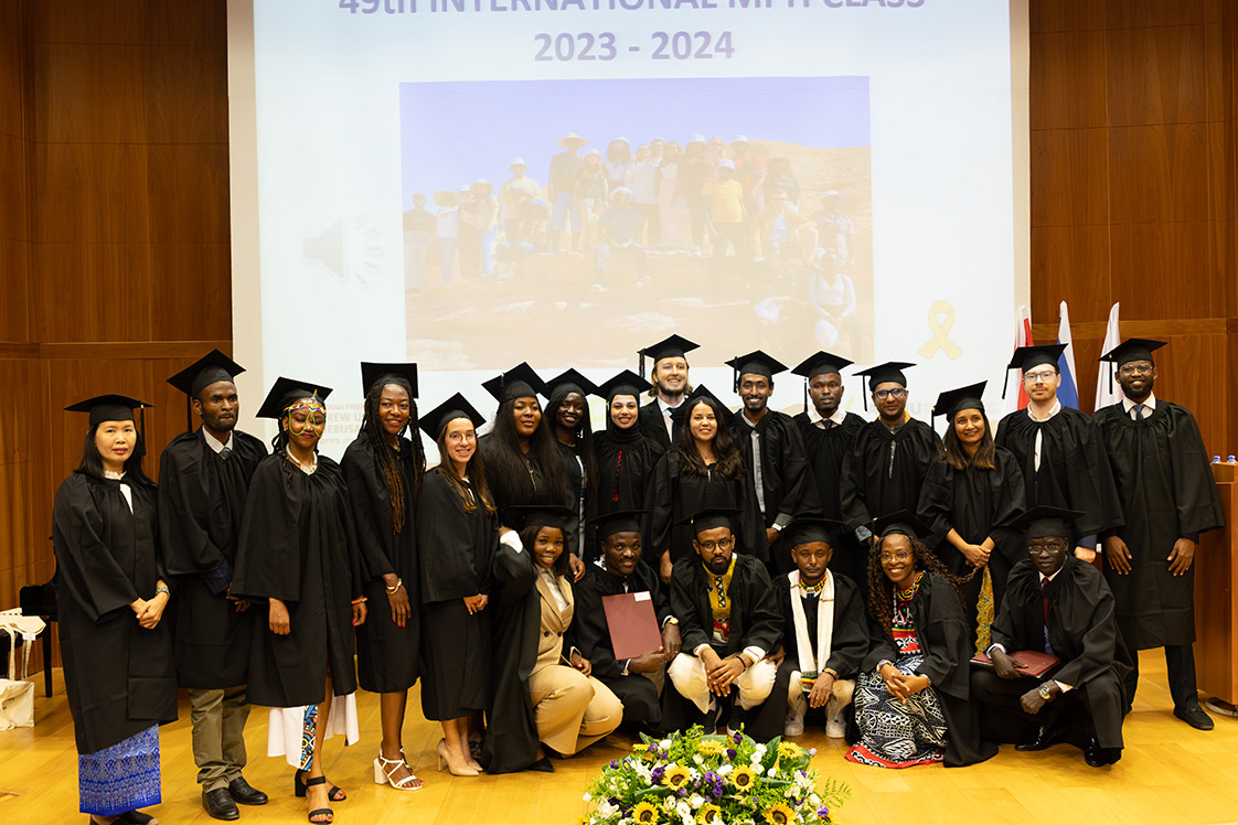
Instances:
[[[765,512],[761,513],[760,500],[756,497],[756,472],[753,461],[753,432],[760,438],[761,495],[765,500]],[[756,427],[751,427],[739,409],[730,417],[730,434],[739,448],[744,461],[744,489],[748,495],[748,510],[761,515],[760,529],[764,532],[774,526],[779,516],[789,523],[794,516],[815,513],[821,510],[817,489],[808,475],[808,461],[805,454],[800,428],[786,413],[766,409]],[[763,538],[763,537],[761,537]],[[766,539],[766,544],[769,541]],[[779,569],[790,569],[789,552],[785,542],[775,542],[769,548]]]

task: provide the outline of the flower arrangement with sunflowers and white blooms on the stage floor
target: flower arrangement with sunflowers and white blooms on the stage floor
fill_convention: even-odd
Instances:
[[[851,790],[832,780],[818,788],[815,754],[781,737],[760,745],[742,731],[707,735],[699,725],[664,740],[641,735],[589,785],[582,825],[833,823]]]

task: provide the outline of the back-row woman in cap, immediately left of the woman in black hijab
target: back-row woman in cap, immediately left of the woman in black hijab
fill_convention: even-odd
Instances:
[[[597,395],[598,387],[576,370],[567,370],[551,378],[546,388],[546,418],[555,433],[567,479],[568,495],[563,503],[576,513],[566,524],[563,543],[568,557],[584,559],[588,513],[598,489],[588,396]]]

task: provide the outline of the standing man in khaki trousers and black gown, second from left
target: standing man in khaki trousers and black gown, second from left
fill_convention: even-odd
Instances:
[[[228,594],[249,480],[266,458],[262,442],[236,429],[233,380],[244,371],[213,350],[167,380],[202,425],[163,449],[158,485],[160,542],[177,585],[176,678],[189,694],[202,804],[224,820],[240,816],[236,803],[266,804],[241,776],[254,611]]]

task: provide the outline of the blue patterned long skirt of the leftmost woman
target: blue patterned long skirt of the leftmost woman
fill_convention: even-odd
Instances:
[[[158,725],[94,753],[78,754],[83,814],[115,816],[160,804]]]

